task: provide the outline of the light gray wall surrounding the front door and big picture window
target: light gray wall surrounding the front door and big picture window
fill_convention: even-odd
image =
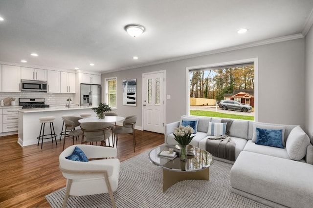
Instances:
[[[178,121],[186,110],[186,67],[258,58],[259,122],[305,126],[305,39],[272,43],[218,54],[166,62],[102,74],[117,77],[117,113],[137,115],[141,124],[142,73],[166,70],[166,124]],[[122,105],[122,81],[137,79],[137,106]]]

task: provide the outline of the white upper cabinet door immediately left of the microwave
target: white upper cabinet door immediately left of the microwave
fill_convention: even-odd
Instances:
[[[21,92],[21,66],[2,65],[2,92]]]

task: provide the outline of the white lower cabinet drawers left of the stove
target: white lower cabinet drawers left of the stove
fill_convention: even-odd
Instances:
[[[2,132],[17,131],[19,129],[19,108],[3,109]]]

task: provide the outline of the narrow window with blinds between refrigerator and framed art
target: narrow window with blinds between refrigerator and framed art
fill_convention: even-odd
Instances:
[[[116,108],[116,77],[105,78],[105,103]]]

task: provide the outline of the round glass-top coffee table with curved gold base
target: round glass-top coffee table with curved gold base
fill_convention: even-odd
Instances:
[[[162,150],[173,148],[177,157],[169,159],[159,156]],[[163,169],[163,192],[169,187],[183,180],[209,180],[209,167],[213,164],[213,156],[198,147],[188,151],[187,161],[179,160],[179,149],[175,145],[162,145],[149,152],[150,161]]]

